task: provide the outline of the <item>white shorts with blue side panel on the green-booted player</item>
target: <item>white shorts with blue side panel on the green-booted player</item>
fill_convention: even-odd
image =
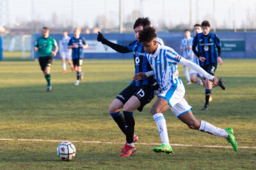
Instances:
[[[184,99],[184,94],[184,85],[178,84],[177,87],[172,86],[170,89],[164,90],[161,94],[158,95],[158,97],[163,97],[163,99],[168,101],[172,113],[179,118],[180,115],[188,113],[188,111],[192,109],[186,99]]]

